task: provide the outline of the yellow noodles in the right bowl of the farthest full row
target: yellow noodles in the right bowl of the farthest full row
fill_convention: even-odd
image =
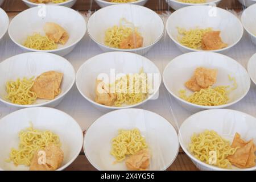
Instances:
[[[206,32],[212,31],[212,28],[195,28],[185,30],[184,28],[177,28],[180,36],[177,37],[178,41],[186,47],[192,49],[201,49],[203,35]]]

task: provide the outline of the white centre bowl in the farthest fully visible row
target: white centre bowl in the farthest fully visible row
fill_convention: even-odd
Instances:
[[[105,46],[105,31],[119,20],[125,18],[138,27],[143,36],[143,47],[135,49],[118,49]],[[104,52],[127,51],[140,55],[145,54],[164,34],[164,23],[158,14],[144,6],[138,5],[112,5],[96,11],[88,20],[88,34]]]

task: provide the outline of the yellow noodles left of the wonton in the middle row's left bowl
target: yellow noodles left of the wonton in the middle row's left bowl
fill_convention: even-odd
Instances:
[[[27,79],[18,78],[16,81],[6,82],[6,99],[14,104],[30,105],[36,101],[36,93],[31,91],[34,77]]]

